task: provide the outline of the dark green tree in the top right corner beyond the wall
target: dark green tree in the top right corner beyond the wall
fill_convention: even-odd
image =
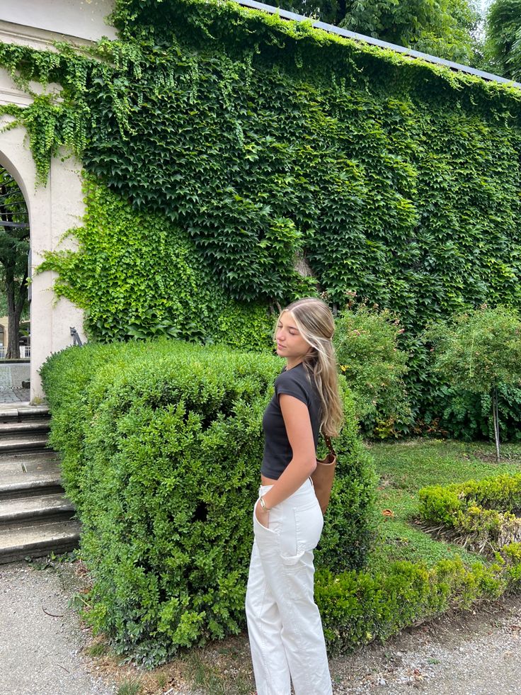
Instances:
[[[485,24],[485,58],[503,77],[521,80],[521,0],[494,0]]]

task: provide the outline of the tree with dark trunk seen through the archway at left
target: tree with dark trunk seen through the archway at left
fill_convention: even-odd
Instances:
[[[0,169],[0,281],[7,300],[7,358],[20,357],[20,320],[27,303],[29,225],[23,193]]]

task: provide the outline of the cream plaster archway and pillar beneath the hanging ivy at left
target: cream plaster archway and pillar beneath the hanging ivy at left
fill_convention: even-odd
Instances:
[[[4,69],[0,69],[0,103],[29,103]],[[4,125],[10,117],[0,118]],[[45,251],[74,247],[74,238],[62,239],[64,232],[77,226],[84,214],[81,193],[81,165],[74,159],[52,160],[47,186],[36,186],[33,157],[28,149],[27,134],[22,128],[0,132],[0,166],[16,179],[28,204],[31,245],[30,287],[30,399],[43,397],[38,370],[52,352],[71,345],[70,327],[83,332],[83,312],[67,300],[56,300],[52,290],[54,273],[36,274]]]

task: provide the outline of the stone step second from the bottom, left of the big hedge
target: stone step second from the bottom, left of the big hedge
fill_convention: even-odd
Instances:
[[[59,493],[4,499],[0,502],[0,528],[70,519],[74,511],[74,504]]]

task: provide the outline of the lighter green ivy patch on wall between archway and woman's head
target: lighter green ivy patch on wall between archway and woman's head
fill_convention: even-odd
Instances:
[[[236,348],[270,346],[273,316],[260,303],[229,298],[187,235],[161,213],[137,211],[93,177],[75,230],[80,252],[50,253],[58,295],[85,310],[86,329],[104,341],[167,334]]]

